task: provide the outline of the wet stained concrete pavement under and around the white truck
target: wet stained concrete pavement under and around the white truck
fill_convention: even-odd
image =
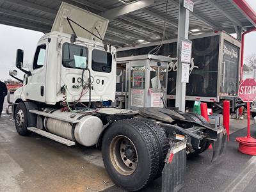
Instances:
[[[246,120],[231,120],[227,154],[211,163],[211,150],[188,160],[182,191],[256,191],[256,159],[237,152]],[[232,131],[233,132],[233,131]],[[255,125],[252,135],[256,137]],[[0,118],[0,191],[123,191],[104,169],[99,148],[67,147],[37,134],[19,136],[10,115]],[[161,191],[161,178],[143,191]]]

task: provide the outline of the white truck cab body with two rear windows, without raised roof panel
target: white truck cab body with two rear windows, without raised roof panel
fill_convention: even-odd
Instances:
[[[23,51],[19,50],[17,54],[23,54]],[[61,87],[66,85],[66,99],[74,102],[81,96],[81,81],[85,81],[81,77],[83,70],[86,70],[86,81],[90,70],[92,101],[115,100],[115,81],[112,81],[116,74],[115,47],[108,46],[105,51],[100,42],[77,38],[72,44],[68,34],[48,33],[40,38],[33,68],[27,72],[21,93],[15,93],[14,100],[20,97],[54,105],[63,100]],[[82,102],[88,102],[88,94],[81,97]]]

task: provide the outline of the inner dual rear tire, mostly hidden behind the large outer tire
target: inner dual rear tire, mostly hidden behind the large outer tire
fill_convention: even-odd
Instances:
[[[165,164],[164,160],[166,158],[168,149],[170,148],[168,137],[163,127],[161,127],[160,125],[157,125],[152,120],[148,120],[146,118],[141,118],[138,120],[140,120],[140,122],[143,122],[143,124],[147,125],[147,127],[150,129],[150,131],[154,135],[154,138],[157,141],[157,148],[159,151],[159,169],[158,169],[156,178],[160,177],[162,175],[162,171]]]

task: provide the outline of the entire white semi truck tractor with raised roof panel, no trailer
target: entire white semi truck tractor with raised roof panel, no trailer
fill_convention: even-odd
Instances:
[[[101,146],[109,176],[128,191],[161,175],[163,191],[178,191],[186,155],[212,143],[217,159],[225,150],[225,129],[166,108],[104,107],[116,89],[116,49],[102,42],[107,27],[108,20],[62,3],[51,33],[38,42],[33,69],[22,68],[24,53],[17,50],[16,66],[26,75],[7,111],[12,107],[21,136],[36,132],[67,146]]]

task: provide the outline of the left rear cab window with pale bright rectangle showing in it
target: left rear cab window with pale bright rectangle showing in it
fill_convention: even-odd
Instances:
[[[88,63],[88,49],[74,44],[63,44],[62,65],[68,68],[86,68]]]

